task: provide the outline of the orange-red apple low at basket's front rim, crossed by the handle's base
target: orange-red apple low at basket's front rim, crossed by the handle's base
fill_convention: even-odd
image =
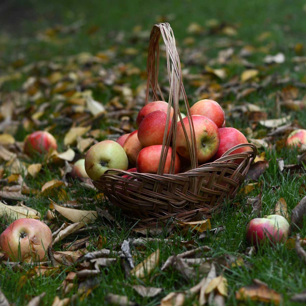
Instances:
[[[143,148],[137,156],[137,161],[136,161],[137,172],[156,174],[158,170],[161,153],[162,153],[161,144]],[[171,153],[172,153],[172,148],[169,147],[166,158],[166,164],[163,171],[163,173],[165,174],[170,173]],[[177,153],[175,153],[174,173],[175,174],[179,173],[180,168],[181,168],[181,161]]]

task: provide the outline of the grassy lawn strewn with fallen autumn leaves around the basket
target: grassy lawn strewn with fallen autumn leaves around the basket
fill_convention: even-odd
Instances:
[[[66,292],[58,287],[69,272],[81,269],[77,263],[61,264],[42,275],[33,266],[2,260],[0,288],[10,303],[26,305],[45,292],[42,305],[109,305],[105,299],[109,293],[127,296],[139,305],[160,305],[168,293],[181,292],[185,305],[199,305],[198,295],[185,293],[200,282],[214,262],[217,274],[228,282],[226,305],[273,305],[270,296],[268,302],[236,299],[237,290],[252,285],[253,279],[281,294],[281,305],[300,304],[290,299],[305,290],[303,260],[289,243],[265,244],[251,254],[245,228],[257,215],[252,213],[252,203],[260,192],[261,217],[271,214],[281,198],[290,216],[306,196],[303,158],[298,158],[296,148],[285,146],[289,132],[306,129],[305,1],[25,0],[4,1],[0,13],[4,13],[0,30],[0,132],[5,135],[0,135],[0,144],[16,153],[23,165],[12,165],[0,152],[2,202],[16,205],[24,198],[24,204],[37,210],[44,220],[47,211],[50,214],[49,197],[76,209],[95,211],[100,207],[115,221],[100,214],[83,230],[55,243],[53,249],[67,250],[65,244],[88,237],[89,252],[106,248],[110,257],[118,259],[101,267],[94,277],[74,278]],[[45,129],[55,136],[58,152],[69,147],[73,150],[72,166],[84,158],[94,141],[115,140],[136,129],[134,110],[144,104],[149,35],[158,22],[169,22],[173,28],[189,104],[200,99],[216,100],[225,110],[226,126],[239,129],[256,144],[257,160],[268,166],[252,182],[245,182],[248,189],[241,186],[234,199],[224,201],[222,212],[210,218],[212,229],[222,227],[216,233],[204,230],[204,235],[180,226],[170,234],[166,229],[157,235],[137,233],[134,229],[138,225],[110,205],[103,194],[69,177],[66,157],[29,158],[22,153],[25,136]],[[169,83],[165,60],[162,51],[159,82],[166,96]],[[105,115],[88,109],[85,93],[105,107]],[[186,112],[180,103],[181,112]],[[278,118],[285,119],[281,123],[269,121],[273,126],[265,121]],[[286,127],[276,133],[283,125]],[[90,128],[78,138],[65,140],[71,128],[87,126]],[[255,169],[259,169],[259,163]],[[42,166],[35,176],[27,173],[32,164]],[[60,183],[43,192],[43,185],[51,180]],[[1,232],[11,221],[6,216],[1,218]],[[65,221],[73,223],[69,216],[67,219],[57,213],[48,224],[54,232]],[[293,237],[297,233],[305,237],[306,226],[293,232]],[[126,261],[116,255],[124,240],[140,237],[158,239],[131,245],[135,265],[160,251],[159,264],[144,278],[128,276]],[[161,270],[169,256],[200,246],[211,248],[197,255],[210,258],[208,266],[191,264],[187,275],[172,266]],[[163,290],[154,297],[141,297],[133,285]],[[63,300],[62,304],[54,301],[55,296]]]

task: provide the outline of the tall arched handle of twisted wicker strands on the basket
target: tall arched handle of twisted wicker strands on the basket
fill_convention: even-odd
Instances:
[[[166,126],[169,125],[170,120],[170,110],[171,106],[174,109],[174,115],[171,118],[171,126],[169,135],[167,136],[167,129],[165,129],[163,142],[162,142],[162,154],[159,161],[159,168],[157,174],[162,174],[166,165],[166,157],[168,154],[168,149],[171,144],[172,155],[171,155],[171,166],[170,174],[174,174],[174,164],[175,164],[175,152],[176,152],[176,132],[177,132],[177,118],[182,121],[181,113],[179,110],[179,97],[182,94],[186,107],[186,116],[188,117],[189,127],[191,131],[191,137],[188,139],[187,131],[185,126],[182,125],[185,138],[187,140],[188,150],[191,157],[192,169],[198,167],[198,159],[196,153],[196,141],[195,133],[193,128],[193,122],[190,114],[190,107],[188,104],[188,99],[186,92],[182,83],[182,69],[180,59],[177,54],[177,49],[175,46],[175,39],[173,31],[169,23],[159,23],[155,24],[150,35],[150,42],[148,48],[148,58],[147,58],[147,92],[145,104],[149,102],[149,92],[151,88],[152,101],[162,100],[165,101],[162,91],[158,84],[159,75],[159,38],[162,39],[166,45],[166,58],[167,58],[167,71],[168,79],[170,84],[170,94],[168,100],[168,110],[167,110],[167,121]]]

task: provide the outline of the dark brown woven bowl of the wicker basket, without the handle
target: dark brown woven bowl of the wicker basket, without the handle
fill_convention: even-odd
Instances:
[[[250,151],[231,154],[241,147]],[[225,199],[233,199],[244,183],[256,156],[253,144],[241,144],[220,159],[180,174],[147,174],[107,170],[96,188],[139,226],[154,227],[169,222],[188,222],[200,212],[206,218],[218,214]]]

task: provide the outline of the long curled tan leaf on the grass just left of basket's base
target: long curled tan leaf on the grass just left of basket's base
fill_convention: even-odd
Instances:
[[[69,207],[63,207],[56,204],[50,198],[50,208],[58,211],[63,217],[67,218],[72,222],[80,222],[83,221],[85,223],[90,223],[94,221],[98,217],[98,213],[96,211],[84,211],[80,209],[74,209]]]

